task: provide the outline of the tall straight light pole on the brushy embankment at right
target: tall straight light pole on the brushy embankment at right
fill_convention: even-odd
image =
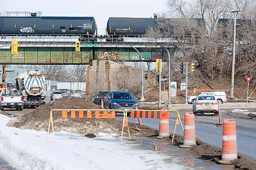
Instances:
[[[231,89],[230,89],[230,98],[234,97],[234,60],[236,56],[236,26],[237,26],[237,14],[240,11],[231,11],[234,13],[234,25],[233,25],[233,47],[232,47],[232,74],[231,74]]]

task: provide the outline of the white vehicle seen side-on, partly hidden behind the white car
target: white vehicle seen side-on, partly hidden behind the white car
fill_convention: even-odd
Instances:
[[[215,99],[218,101],[219,104],[227,102],[227,95],[225,91],[206,91],[201,92],[198,95],[214,95]],[[197,95],[188,96],[187,97],[187,103],[193,104],[196,101]]]

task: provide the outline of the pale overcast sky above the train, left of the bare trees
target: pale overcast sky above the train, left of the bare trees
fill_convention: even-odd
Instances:
[[[105,34],[109,17],[153,17],[167,13],[166,0],[0,0],[0,12],[42,12],[42,16],[93,16],[98,34]],[[77,3],[76,3],[77,2]]]

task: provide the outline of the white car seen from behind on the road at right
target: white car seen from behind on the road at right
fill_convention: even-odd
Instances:
[[[197,115],[214,113],[218,114],[218,101],[214,95],[198,95],[196,101],[193,103],[193,113]]]

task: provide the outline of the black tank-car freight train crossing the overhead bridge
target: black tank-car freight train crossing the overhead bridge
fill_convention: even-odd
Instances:
[[[41,16],[40,12],[28,13],[20,16],[19,12],[5,12],[0,15],[0,34],[2,35],[79,35],[83,38],[97,37],[97,26],[94,17],[56,17]],[[14,16],[13,16],[14,15]],[[155,28],[158,21],[165,20],[168,23],[176,23],[184,19],[161,19],[161,18],[124,18],[110,17],[107,23],[106,39],[120,36],[144,35],[150,28]],[[195,20],[198,26],[204,26],[202,19]],[[168,24],[169,25],[169,24]],[[164,31],[174,30],[179,27],[170,24]],[[96,34],[95,34],[96,33]]]

